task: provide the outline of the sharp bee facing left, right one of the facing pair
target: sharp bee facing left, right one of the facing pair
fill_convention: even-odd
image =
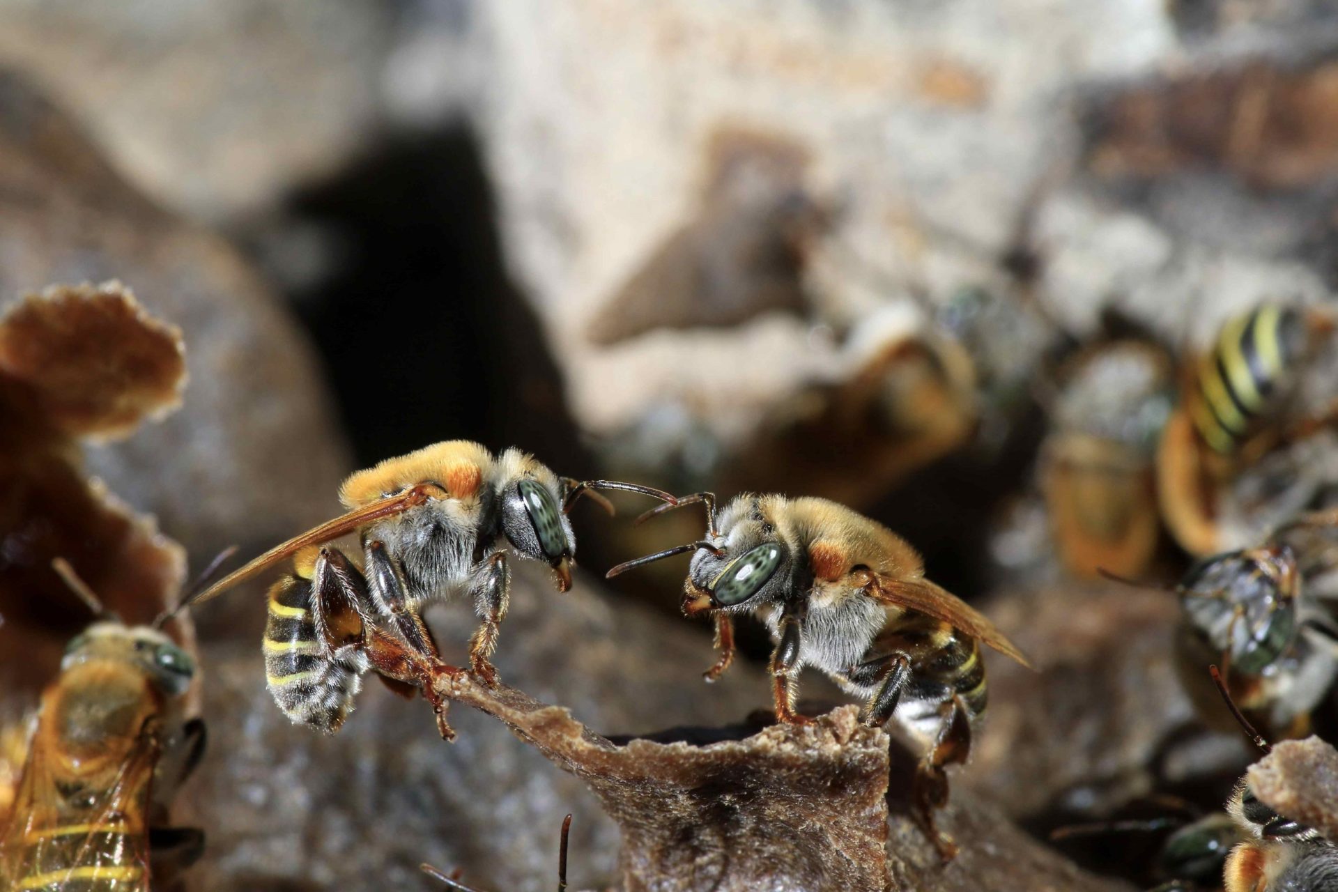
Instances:
[[[1022,653],[989,619],[925,579],[921,558],[886,527],[826,499],[736,496],[716,519],[716,496],[701,501],[706,538],[619,564],[610,576],[693,552],[682,611],[709,614],[720,657],[706,679],[733,659],[733,617],[751,612],[771,631],[776,718],[808,723],[795,711],[800,670],[814,666],[866,699],[862,721],[882,726],[902,707],[927,745],[915,773],[917,817],[945,857],[955,844],[933,813],[947,801],[946,766],[966,761],[971,723],[986,705],[985,642],[1022,665]],[[642,519],[674,504],[661,506]]]

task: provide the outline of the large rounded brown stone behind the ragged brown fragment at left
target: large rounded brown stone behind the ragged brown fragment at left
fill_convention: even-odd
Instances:
[[[348,459],[274,296],[231,247],[155,207],[68,118],[0,74],[0,304],[111,278],[183,332],[190,384],[181,412],[90,449],[91,471],[199,560],[328,516]]]

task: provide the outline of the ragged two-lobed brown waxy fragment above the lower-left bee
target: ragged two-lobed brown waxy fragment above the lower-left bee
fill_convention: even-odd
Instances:
[[[185,385],[181,336],[127,289],[51,288],[0,317],[0,675],[31,701],[64,642],[91,619],[51,570],[68,560],[131,625],[167,607],[185,552],[83,471],[75,437],[123,436],[173,409]],[[187,622],[175,626],[190,643]],[[17,655],[23,654],[21,659]]]

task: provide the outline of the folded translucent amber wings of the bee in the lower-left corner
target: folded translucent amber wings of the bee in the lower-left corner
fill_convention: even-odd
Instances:
[[[0,839],[0,876],[15,883],[35,873],[48,881],[72,881],[63,876],[79,868],[96,872],[103,888],[116,892],[149,889],[149,792],[158,762],[155,734],[142,733],[112,784],[94,796],[94,806],[67,812],[64,797],[44,748],[33,745],[24,766],[5,836]],[[71,845],[71,832],[82,836]],[[139,868],[138,871],[135,868]],[[43,884],[47,888],[47,883]]]

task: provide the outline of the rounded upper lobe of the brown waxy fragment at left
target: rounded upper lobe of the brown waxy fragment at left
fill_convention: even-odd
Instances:
[[[119,282],[56,286],[0,318],[0,374],[64,435],[119,437],[181,404],[185,346]]]

